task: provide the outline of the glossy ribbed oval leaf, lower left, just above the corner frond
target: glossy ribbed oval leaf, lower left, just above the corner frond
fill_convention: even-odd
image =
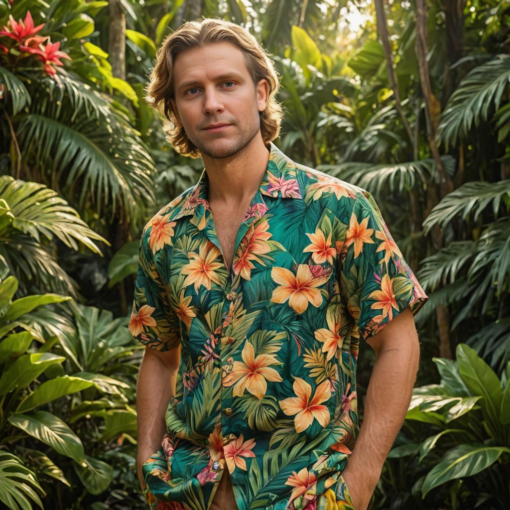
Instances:
[[[12,415],[8,420],[56,452],[71,457],[79,464],[83,462],[85,452],[81,439],[57,416],[46,411],[34,411],[30,414]]]

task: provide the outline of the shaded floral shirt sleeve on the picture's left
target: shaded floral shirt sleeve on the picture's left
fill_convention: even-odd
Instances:
[[[181,342],[180,320],[171,308],[164,283],[147,245],[148,232],[140,240],[138,270],[129,321],[131,334],[142,344],[160,351]]]

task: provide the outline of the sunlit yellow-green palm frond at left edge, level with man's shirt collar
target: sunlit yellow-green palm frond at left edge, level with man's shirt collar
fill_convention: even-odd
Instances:
[[[16,180],[10,175],[0,177],[0,198],[14,215],[13,226],[40,242],[40,234],[48,240],[57,236],[66,246],[79,249],[77,241],[103,256],[92,241],[110,243],[93,232],[78,213],[58,193],[43,184]]]

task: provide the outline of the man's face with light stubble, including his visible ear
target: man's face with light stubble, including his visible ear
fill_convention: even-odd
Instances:
[[[218,42],[180,53],[173,63],[171,106],[186,135],[211,158],[227,158],[259,132],[266,80],[253,84],[241,49]],[[215,124],[227,124],[212,127]]]

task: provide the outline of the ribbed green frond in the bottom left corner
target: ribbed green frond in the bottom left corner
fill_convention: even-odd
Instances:
[[[23,466],[15,455],[0,451],[0,501],[14,510],[31,510],[28,497],[42,508],[41,499],[34,488],[45,494],[35,473]]]

